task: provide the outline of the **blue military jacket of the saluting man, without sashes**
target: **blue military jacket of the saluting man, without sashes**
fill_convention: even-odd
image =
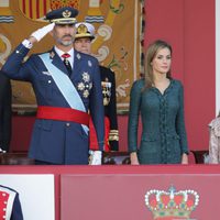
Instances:
[[[30,81],[38,106],[69,108],[37,54],[32,55],[22,64],[28,53],[29,50],[20,44],[2,69],[13,79]],[[68,74],[54,50],[50,52],[50,56],[53,65],[64,74]],[[90,111],[98,135],[99,150],[102,150],[103,105],[98,61],[76,51],[74,56],[74,68],[69,78],[86,111]],[[79,123],[36,119],[29,156],[54,164],[88,164],[88,135]]]

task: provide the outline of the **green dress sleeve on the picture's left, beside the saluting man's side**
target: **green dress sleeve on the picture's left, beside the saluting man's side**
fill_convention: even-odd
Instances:
[[[142,80],[143,81],[143,80]],[[129,110],[129,127],[128,127],[128,142],[129,152],[138,151],[138,128],[139,128],[139,114],[141,106],[142,94],[141,80],[133,84],[130,94],[130,110]]]

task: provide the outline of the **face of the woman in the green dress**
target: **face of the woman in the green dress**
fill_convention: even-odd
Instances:
[[[167,47],[158,50],[156,56],[151,63],[154,74],[167,74],[170,69],[170,64],[172,55]]]

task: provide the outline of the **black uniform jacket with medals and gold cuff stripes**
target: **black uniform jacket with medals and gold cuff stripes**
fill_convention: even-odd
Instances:
[[[119,131],[117,119],[116,77],[111,69],[100,66],[105,116],[110,122],[110,132],[107,136],[110,150],[119,150]]]

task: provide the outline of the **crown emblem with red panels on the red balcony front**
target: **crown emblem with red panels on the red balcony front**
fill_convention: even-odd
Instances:
[[[191,211],[199,204],[199,195],[195,190],[179,190],[170,187],[168,191],[152,189],[145,195],[145,205],[154,219],[189,219]]]

